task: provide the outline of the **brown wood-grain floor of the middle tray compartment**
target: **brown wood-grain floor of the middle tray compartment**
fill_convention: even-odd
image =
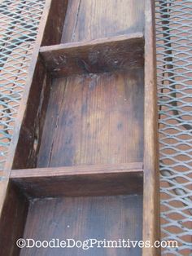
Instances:
[[[55,79],[37,167],[126,163],[142,157],[142,69]]]

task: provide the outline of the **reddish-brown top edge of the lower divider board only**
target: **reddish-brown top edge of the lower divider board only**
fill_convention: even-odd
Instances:
[[[11,170],[11,179],[43,178],[83,174],[109,174],[109,173],[141,173],[142,162],[115,164],[115,165],[87,165],[87,166],[62,166],[55,168],[35,168],[24,170]]]

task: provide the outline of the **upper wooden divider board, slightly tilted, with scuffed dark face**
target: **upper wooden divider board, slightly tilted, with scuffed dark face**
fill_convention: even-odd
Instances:
[[[144,63],[142,33],[89,42],[42,46],[40,53],[54,77],[140,68]]]

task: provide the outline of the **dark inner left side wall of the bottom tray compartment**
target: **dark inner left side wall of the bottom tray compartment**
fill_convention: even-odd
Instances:
[[[19,188],[9,183],[0,221],[1,255],[19,255],[16,241],[23,237],[24,225],[28,214],[28,201]]]

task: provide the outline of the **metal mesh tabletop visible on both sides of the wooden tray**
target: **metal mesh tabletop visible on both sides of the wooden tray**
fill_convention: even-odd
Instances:
[[[0,169],[6,161],[45,0],[0,1]],[[190,255],[192,0],[155,0],[164,255]]]

